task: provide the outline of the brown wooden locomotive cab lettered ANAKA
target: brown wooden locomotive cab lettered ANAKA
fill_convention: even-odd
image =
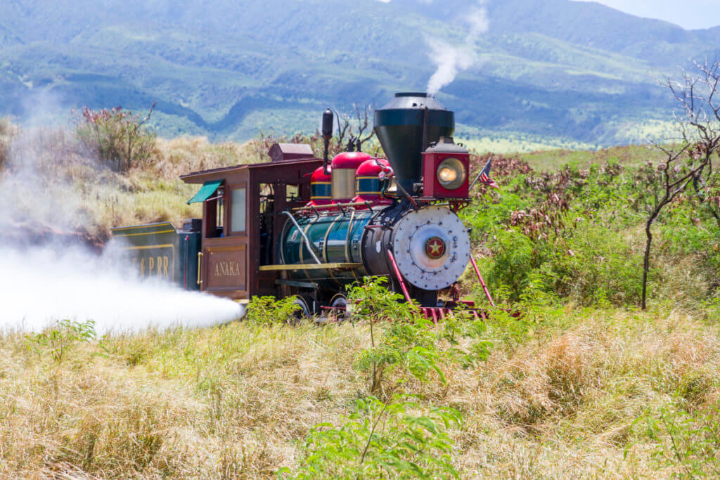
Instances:
[[[282,273],[260,267],[277,263],[275,246],[287,221],[282,212],[310,201],[310,175],[322,163],[320,158],[280,160],[181,176],[186,184],[220,182],[203,200],[202,291],[234,300],[277,294]]]

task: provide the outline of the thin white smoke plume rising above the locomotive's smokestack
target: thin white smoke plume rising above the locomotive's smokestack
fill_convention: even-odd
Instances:
[[[426,38],[430,47],[430,60],[437,67],[428,81],[428,94],[438,93],[440,89],[454,81],[460,71],[467,70],[477,61],[475,43],[490,27],[485,1],[480,0],[480,4],[464,17],[464,21],[469,23],[470,30],[460,45],[452,45],[446,40],[437,38]]]

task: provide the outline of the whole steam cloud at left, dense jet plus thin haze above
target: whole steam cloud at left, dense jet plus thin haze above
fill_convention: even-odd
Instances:
[[[33,118],[50,111],[42,103]],[[94,320],[104,335],[241,316],[243,307],[231,300],[140,280],[119,256],[99,255],[79,240],[68,245],[73,235],[63,233],[91,222],[87,192],[111,177],[66,130],[26,129],[12,141],[0,169],[0,332],[38,331],[67,319]]]

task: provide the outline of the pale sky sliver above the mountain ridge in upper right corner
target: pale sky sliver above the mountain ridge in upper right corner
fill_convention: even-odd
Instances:
[[[597,1],[638,17],[657,18],[687,29],[720,25],[720,0],[579,0]],[[720,44],[720,39],[718,39]]]

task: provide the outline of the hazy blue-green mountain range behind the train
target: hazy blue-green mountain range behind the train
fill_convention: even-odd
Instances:
[[[610,145],[667,119],[657,77],[719,38],[570,0],[4,0],[0,114],[157,101],[166,136],[310,131],[325,107],[424,91],[462,47],[474,62],[437,94],[461,135]]]

